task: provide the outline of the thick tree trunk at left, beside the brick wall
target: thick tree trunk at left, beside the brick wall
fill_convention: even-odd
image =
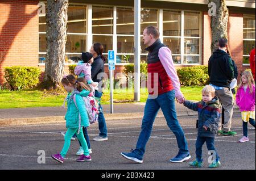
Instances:
[[[56,89],[64,74],[68,0],[47,0],[44,87]]]

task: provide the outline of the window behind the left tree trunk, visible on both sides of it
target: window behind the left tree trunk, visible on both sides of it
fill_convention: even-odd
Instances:
[[[86,50],[86,5],[69,5],[65,63],[81,60]],[[46,61],[46,16],[39,16],[39,63]]]

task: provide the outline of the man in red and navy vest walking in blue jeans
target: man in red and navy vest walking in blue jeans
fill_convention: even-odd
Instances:
[[[161,108],[168,127],[174,133],[179,153],[170,159],[170,162],[183,162],[191,158],[188,144],[183,129],[177,120],[175,110],[175,98],[179,103],[184,102],[184,96],[180,91],[180,82],[177,77],[171,50],[159,40],[159,30],[149,26],[143,31],[143,41],[147,45],[148,53],[148,98],[144,108],[142,131],[139,134],[137,146],[130,153],[121,153],[126,159],[136,163],[143,163],[142,158],[146,151],[146,144],[150,138],[155,117]],[[154,86],[152,87],[152,84]]]

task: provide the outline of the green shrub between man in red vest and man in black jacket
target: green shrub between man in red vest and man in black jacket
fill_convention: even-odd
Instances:
[[[192,66],[177,69],[181,86],[203,86],[209,83],[207,66]]]

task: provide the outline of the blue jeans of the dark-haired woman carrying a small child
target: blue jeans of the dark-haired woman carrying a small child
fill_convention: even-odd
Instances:
[[[102,92],[99,91],[95,91],[95,95],[96,98],[101,98],[102,96]],[[108,136],[108,131],[107,131],[107,127],[106,127],[106,121],[105,121],[105,117],[102,111],[102,107],[101,104],[99,103],[99,107],[100,107],[100,111],[98,113],[98,129],[100,129],[100,136],[101,137],[107,137]]]

